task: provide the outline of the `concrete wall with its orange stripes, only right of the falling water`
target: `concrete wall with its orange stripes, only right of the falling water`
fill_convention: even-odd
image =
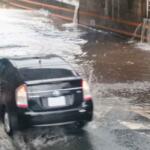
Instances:
[[[146,16],[146,0],[80,0],[80,23],[132,36]],[[95,14],[95,15],[94,15]]]

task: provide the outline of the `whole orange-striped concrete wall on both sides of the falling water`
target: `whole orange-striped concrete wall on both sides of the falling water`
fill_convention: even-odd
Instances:
[[[79,23],[133,36],[146,16],[146,0],[5,0],[20,8],[48,9],[54,16],[72,22],[75,6],[80,3]],[[71,4],[69,4],[71,2]],[[43,5],[44,4],[44,5]],[[137,35],[136,37],[140,37]]]

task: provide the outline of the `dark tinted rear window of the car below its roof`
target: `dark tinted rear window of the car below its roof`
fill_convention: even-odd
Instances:
[[[60,68],[21,68],[19,72],[24,80],[40,80],[40,79],[53,79],[73,77],[74,74],[71,70]]]

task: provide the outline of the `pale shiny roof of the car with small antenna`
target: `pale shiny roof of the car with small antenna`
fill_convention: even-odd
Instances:
[[[18,69],[21,68],[63,68],[73,70],[69,63],[57,55],[46,57],[22,57],[8,59],[12,65]]]

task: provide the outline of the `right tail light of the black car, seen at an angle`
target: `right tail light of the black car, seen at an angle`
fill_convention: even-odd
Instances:
[[[84,100],[85,101],[92,100],[92,96],[91,96],[91,93],[90,93],[89,85],[88,85],[88,83],[85,80],[82,81],[82,88],[83,88]]]

